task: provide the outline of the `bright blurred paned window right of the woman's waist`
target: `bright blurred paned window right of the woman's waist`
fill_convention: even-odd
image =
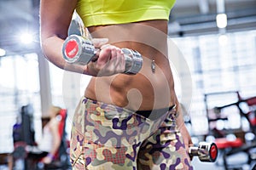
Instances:
[[[189,111],[191,121],[195,122],[194,133],[207,133],[205,94],[239,91],[243,98],[256,95],[255,38],[256,31],[172,38],[183,53],[192,77]],[[224,39],[227,41],[223,42]],[[225,104],[225,98],[219,97],[218,102]],[[236,114],[233,119],[236,119]]]

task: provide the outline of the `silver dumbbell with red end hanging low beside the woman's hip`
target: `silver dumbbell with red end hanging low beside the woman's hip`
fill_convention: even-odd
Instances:
[[[189,147],[189,156],[198,156],[200,161],[216,161],[218,147],[214,143],[200,142],[198,146]]]

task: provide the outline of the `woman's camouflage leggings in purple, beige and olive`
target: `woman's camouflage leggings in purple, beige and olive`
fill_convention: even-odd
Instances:
[[[156,119],[81,99],[73,117],[73,169],[193,169],[175,122],[175,109]]]

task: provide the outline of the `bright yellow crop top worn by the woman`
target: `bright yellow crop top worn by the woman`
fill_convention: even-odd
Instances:
[[[78,0],[76,11],[84,26],[168,20],[176,0]]]

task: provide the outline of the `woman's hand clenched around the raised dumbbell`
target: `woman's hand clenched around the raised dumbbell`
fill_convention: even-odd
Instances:
[[[94,77],[112,76],[125,71],[125,57],[122,50],[107,44],[108,39],[93,39],[98,48],[95,58],[87,65],[87,72]]]

